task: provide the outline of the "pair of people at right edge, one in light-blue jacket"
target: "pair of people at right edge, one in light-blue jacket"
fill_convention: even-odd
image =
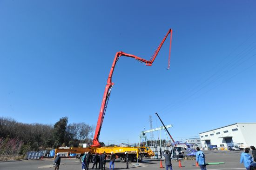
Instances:
[[[256,149],[254,146],[250,147],[252,150],[252,156],[249,154],[249,149],[245,149],[241,153],[240,163],[243,163],[246,170],[256,170]]]

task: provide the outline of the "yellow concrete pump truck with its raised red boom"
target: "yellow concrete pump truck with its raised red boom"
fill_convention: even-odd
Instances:
[[[55,149],[55,156],[54,157],[56,157],[56,154],[58,152],[76,153],[76,154],[80,154],[80,162],[81,162],[81,157],[83,156],[83,154],[85,152],[90,151],[92,154],[94,154],[95,152],[103,153],[105,151],[107,155],[110,155],[111,152],[114,152],[115,155],[120,158],[121,162],[126,162],[125,153],[124,153],[125,151],[128,152],[128,156],[129,156],[130,161],[134,161],[136,159],[138,159],[138,161],[141,161],[142,157],[152,157],[152,156],[154,156],[154,152],[152,150],[150,150],[149,147],[142,147],[140,145],[138,147],[117,147],[117,146],[115,146],[115,147],[102,147],[100,142],[99,142],[99,136],[100,136],[100,132],[101,132],[101,126],[102,126],[102,123],[103,123],[103,119],[105,117],[110,92],[111,92],[111,89],[114,85],[114,83],[112,82],[112,75],[113,75],[113,72],[114,72],[115,65],[116,65],[117,61],[120,59],[121,56],[124,56],[124,57],[134,58],[134,59],[140,61],[141,63],[143,63],[147,66],[151,66],[153,64],[158,52],[160,51],[164,41],[166,40],[166,38],[168,37],[169,34],[170,34],[170,46],[169,46],[169,56],[168,56],[168,69],[169,69],[170,54],[171,54],[171,42],[172,42],[172,29],[168,30],[165,37],[162,39],[162,42],[157,47],[154,54],[152,55],[152,57],[149,60],[142,59],[138,56],[135,56],[133,54],[128,54],[128,53],[125,53],[125,52],[122,52],[122,51],[116,52],[113,64],[111,66],[111,69],[110,69],[110,72],[109,72],[109,75],[108,75],[107,85],[106,85],[105,91],[103,93],[103,98],[102,98],[102,102],[101,102],[101,109],[100,109],[99,118],[98,118],[96,129],[95,129],[95,134],[94,134],[94,139],[92,141],[92,145],[90,147],[86,147],[86,148],[71,147],[70,149]]]

